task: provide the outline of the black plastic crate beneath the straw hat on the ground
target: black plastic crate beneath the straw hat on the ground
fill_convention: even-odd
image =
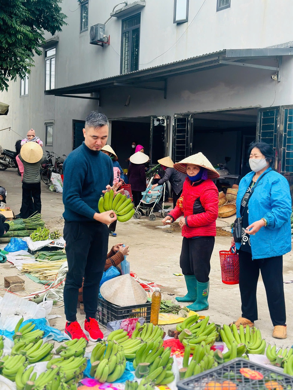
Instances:
[[[111,321],[119,321],[125,318],[145,317],[147,322],[150,322],[150,309],[152,302],[146,302],[142,305],[133,306],[116,306],[113,303],[98,300],[98,310],[96,312],[97,320],[103,325],[107,325]]]

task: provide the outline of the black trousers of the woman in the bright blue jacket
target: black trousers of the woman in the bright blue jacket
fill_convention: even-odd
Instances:
[[[252,260],[249,252],[239,250],[238,254],[242,317],[251,322],[257,320],[256,289],[261,271],[273,326],[286,325],[283,256]]]

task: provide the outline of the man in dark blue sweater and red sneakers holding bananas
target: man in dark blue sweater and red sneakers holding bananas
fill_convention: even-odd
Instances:
[[[113,185],[113,163],[101,152],[109,132],[104,114],[92,111],[83,129],[84,142],[72,151],[63,164],[64,239],[68,272],[64,285],[64,335],[91,341],[103,339],[96,321],[98,293],[108,252],[107,225],[116,220],[113,211],[99,213],[98,201],[106,188],[114,193],[121,183]],[[86,321],[84,330],[77,322],[79,288],[84,277],[83,300]]]

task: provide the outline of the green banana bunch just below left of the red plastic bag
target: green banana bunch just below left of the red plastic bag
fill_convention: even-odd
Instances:
[[[135,376],[146,378],[144,384],[152,382],[154,385],[168,385],[173,382],[173,358],[170,354],[171,348],[164,349],[163,339],[143,343],[133,361]]]

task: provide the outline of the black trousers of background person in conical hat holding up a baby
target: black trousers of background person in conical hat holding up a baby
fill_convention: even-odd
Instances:
[[[22,183],[21,218],[29,218],[33,213],[41,213],[41,183]]]

